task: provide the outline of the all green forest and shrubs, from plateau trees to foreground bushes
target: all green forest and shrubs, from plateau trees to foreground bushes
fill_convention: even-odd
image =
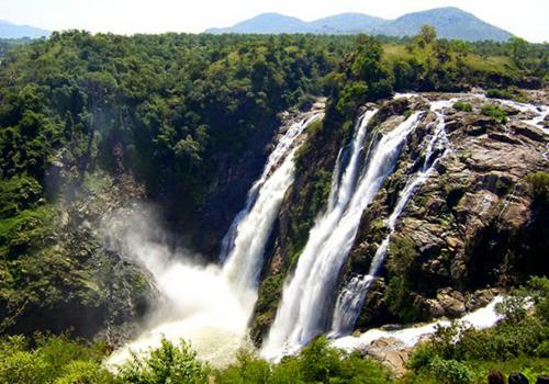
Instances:
[[[147,284],[86,223],[104,214],[98,205],[143,197],[173,228],[194,226],[221,169],[265,144],[281,112],[322,97],[326,117],[311,137],[337,127],[346,140],[360,105],[395,92],[483,88],[522,101],[523,89],[548,80],[548,44],[447,41],[428,25],[410,38],[69,31],[0,41],[0,383],[393,382],[380,363],[332,349],[324,337],[278,364],[242,350],[223,370],[198,360],[184,340],[164,340],[109,372],[101,363],[114,346],[93,336],[143,315]],[[304,145],[296,167],[306,168],[314,150]],[[533,183],[547,207],[549,177]],[[295,215],[311,222],[315,210]],[[492,369],[526,372],[530,382],[548,374],[548,291],[547,279],[523,281],[496,327],[440,329],[399,381],[484,383]],[[74,316],[58,321],[59,312]]]

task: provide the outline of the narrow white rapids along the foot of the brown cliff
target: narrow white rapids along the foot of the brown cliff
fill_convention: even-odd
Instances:
[[[493,327],[502,318],[501,315],[495,312],[496,304],[502,301],[502,296],[496,296],[488,306],[464,315],[458,319],[457,323],[475,329]],[[438,327],[448,327],[450,324],[449,320],[437,320],[397,330],[373,328],[358,337],[346,336],[338,338],[332,342],[332,346],[347,351],[357,349],[363,350],[368,349],[372,341],[381,338],[392,338],[395,340],[393,348],[403,349],[414,347],[423,338],[435,334]]]

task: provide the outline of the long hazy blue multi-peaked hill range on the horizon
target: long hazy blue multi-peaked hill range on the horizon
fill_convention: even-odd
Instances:
[[[361,13],[343,13],[312,22],[279,13],[262,13],[231,27],[210,29],[206,33],[316,33],[355,34],[368,33],[389,36],[415,35],[423,24],[436,27],[440,37],[467,41],[506,41],[512,34],[489,24],[459,8],[436,8],[384,20]]]

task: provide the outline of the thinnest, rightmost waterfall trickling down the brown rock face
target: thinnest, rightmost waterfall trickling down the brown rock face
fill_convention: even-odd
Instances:
[[[430,173],[435,170],[435,167],[439,159],[446,156],[446,154],[448,153],[449,140],[445,132],[445,117],[439,111],[442,108],[448,106],[450,103],[451,101],[440,101],[432,103],[430,110],[437,115],[437,121],[435,123],[434,133],[426,146],[422,168],[410,178],[408,182],[399,194],[396,205],[394,206],[393,212],[389,216],[386,223],[389,234],[378,247],[378,250],[376,251],[376,255],[373,256],[373,259],[371,261],[368,274],[363,276],[352,276],[337,297],[336,306],[334,309],[334,318],[332,323],[332,337],[348,335],[352,331],[355,323],[360,315],[360,310],[362,308],[362,304],[365,302],[370,284],[384,261],[391,235],[394,233],[396,226],[396,221],[401,216],[404,207],[412,199],[417,188],[427,180]]]

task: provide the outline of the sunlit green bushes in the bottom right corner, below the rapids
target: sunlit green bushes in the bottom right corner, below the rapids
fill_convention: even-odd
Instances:
[[[548,293],[547,278],[531,278],[498,305],[503,319],[494,328],[475,330],[456,323],[439,327],[434,338],[412,354],[411,376],[434,376],[447,383],[482,382],[490,369],[530,373],[528,366],[537,374],[547,374]],[[525,309],[528,302],[534,312]]]

